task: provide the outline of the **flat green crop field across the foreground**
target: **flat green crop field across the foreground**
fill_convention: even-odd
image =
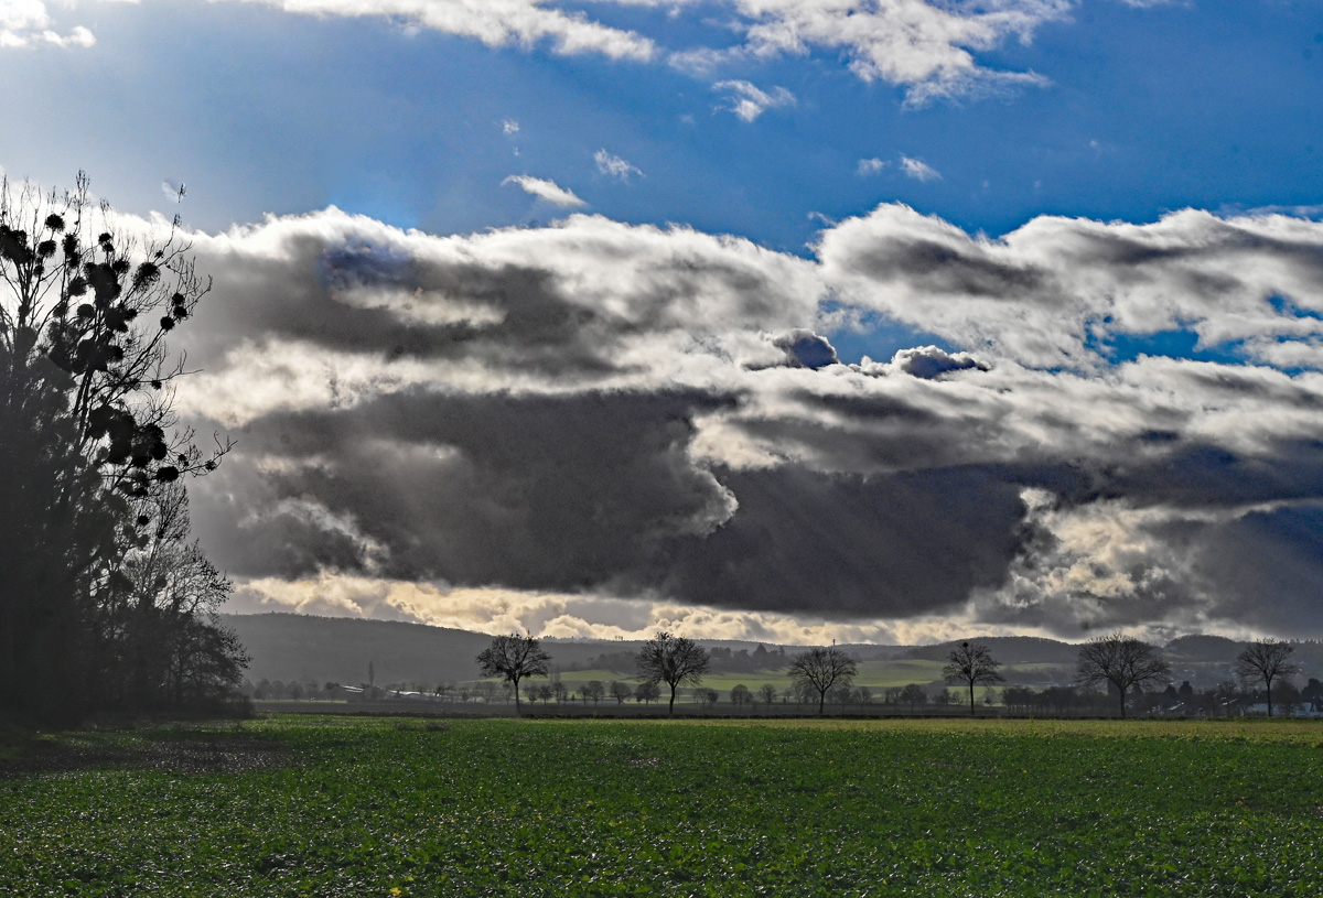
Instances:
[[[1320,894],[1299,722],[277,717],[0,760],[5,895]]]

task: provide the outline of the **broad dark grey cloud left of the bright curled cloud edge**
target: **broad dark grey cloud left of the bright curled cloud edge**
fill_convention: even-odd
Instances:
[[[279,413],[239,435],[234,462],[265,460],[261,483],[222,471],[200,505],[243,534],[226,558],[243,575],[335,567],[456,585],[598,586],[646,563],[660,540],[701,537],[729,518],[730,496],[687,456],[691,417],[718,405],[664,393],[414,391],[352,410]],[[224,499],[232,489],[238,499]],[[308,500],[320,516],[298,505]],[[250,508],[271,513],[246,517]],[[324,532],[304,551],[333,551],[304,554],[306,567],[290,570],[298,559],[269,546],[318,522]],[[345,551],[345,533],[357,553]]]

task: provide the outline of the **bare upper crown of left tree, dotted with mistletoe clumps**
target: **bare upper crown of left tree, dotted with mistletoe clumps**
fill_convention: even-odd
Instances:
[[[230,448],[217,439],[201,451],[188,429],[168,434],[169,386],[187,372],[167,335],[210,291],[177,225],[147,242],[119,233],[85,175],[62,197],[0,183],[0,349],[64,372],[78,448],[138,496],[151,481],[213,469]]]

